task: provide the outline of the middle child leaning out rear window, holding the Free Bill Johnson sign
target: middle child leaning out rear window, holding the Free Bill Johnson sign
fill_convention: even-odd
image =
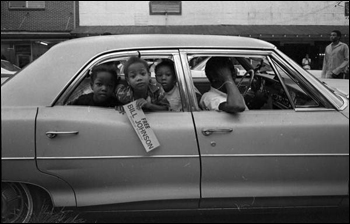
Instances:
[[[138,108],[146,111],[169,110],[165,92],[158,83],[151,82],[151,73],[145,60],[130,57],[124,64],[124,74],[128,85],[118,85],[117,98],[123,104],[136,100]]]

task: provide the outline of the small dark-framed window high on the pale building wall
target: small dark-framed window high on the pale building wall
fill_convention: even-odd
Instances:
[[[181,15],[181,1],[150,1],[150,15]]]

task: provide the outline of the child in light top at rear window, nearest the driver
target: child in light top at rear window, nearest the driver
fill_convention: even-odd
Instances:
[[[179,87],[177,86],[174,62],[170,59],[164,59],[156,68],[156,80],[165,91],[165,97],[170,103],[171,111],[181,111],[182,103]]]

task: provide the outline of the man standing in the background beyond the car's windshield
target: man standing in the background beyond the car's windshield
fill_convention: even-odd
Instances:
[[[345,78],[345,69],[349,64],[349,47],[340,42],[341,32],[331,32],[331,44],[326,47],[321,78]]]

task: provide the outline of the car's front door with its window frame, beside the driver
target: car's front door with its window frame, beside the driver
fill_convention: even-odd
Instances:
[[[201,207],[335,206],[348,194],[349,120],[307,90],[286,62],[264,51],[188,50],[181,56],[258,58],[271,68],[259,72],[269,96],[260,109],[228,114],[194,106]],[[187,73],[196,74],[189,66]]]

